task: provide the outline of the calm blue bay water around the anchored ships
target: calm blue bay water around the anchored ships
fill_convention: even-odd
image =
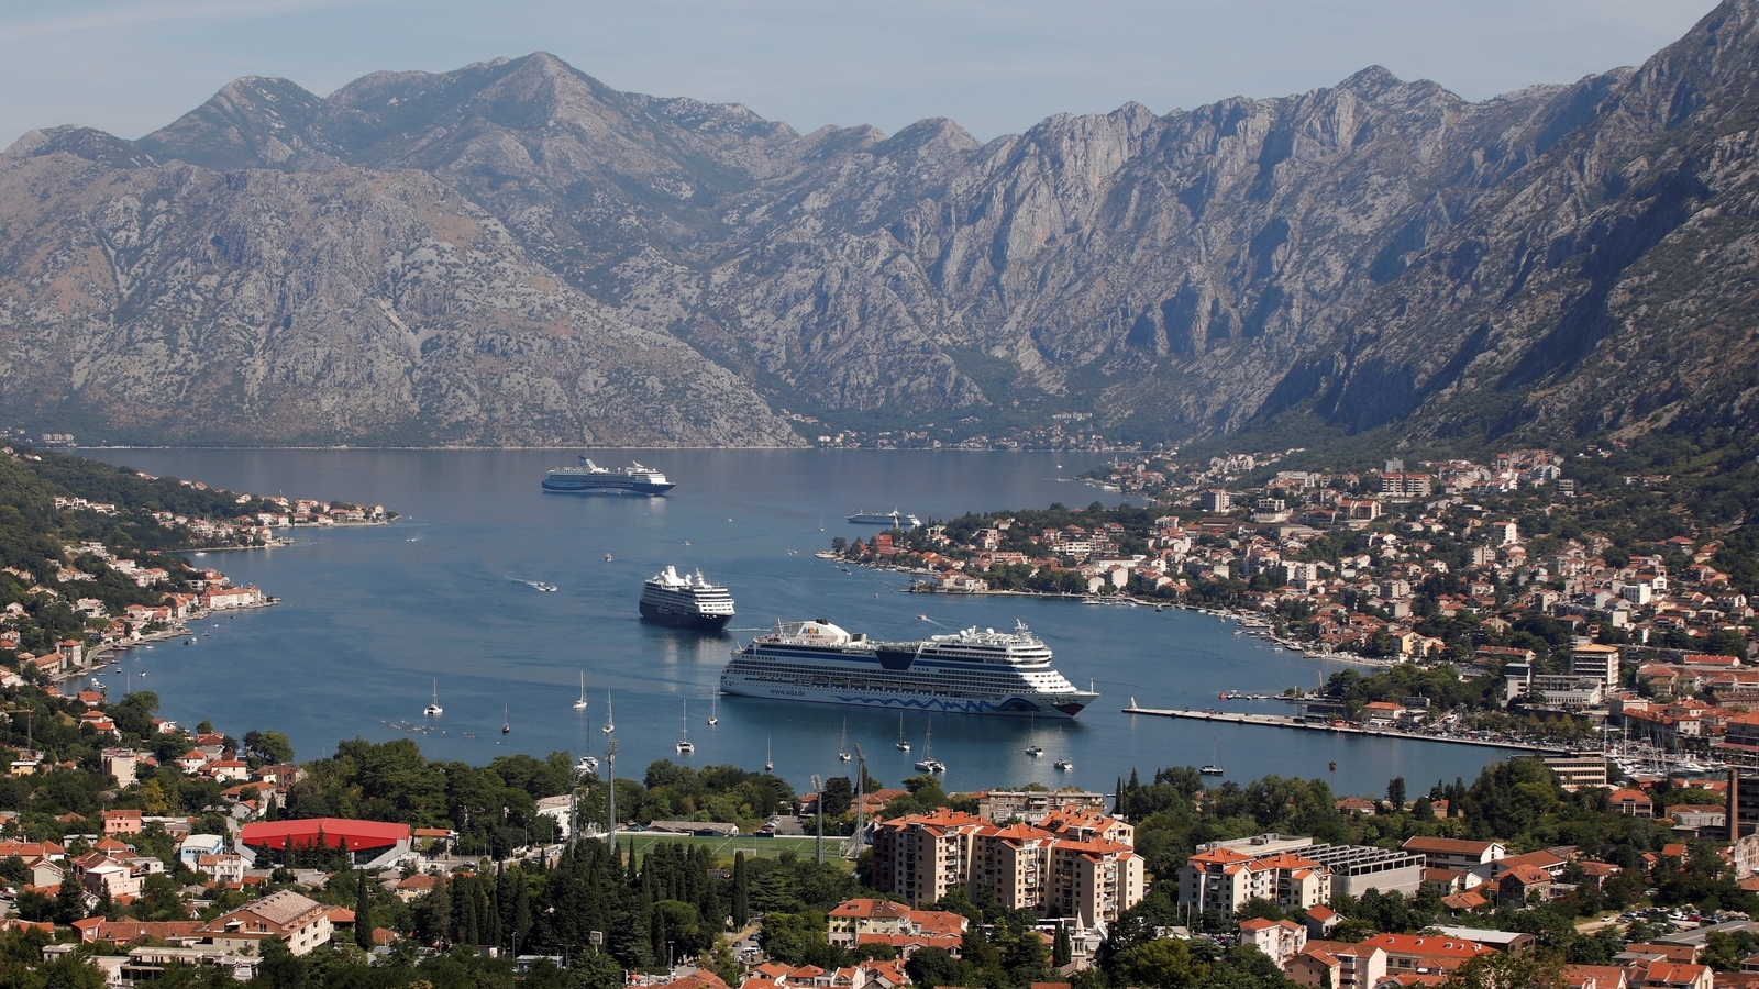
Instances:
[[[1223,690],[1277,693],[1312,686],[1337,667],[1235,635],[1231,623],[1147,607],[1084,607],[1062,600],[906,595],[901,574],[844,574],[813,551],[832,537],[871,537],[843,521],[894,507],[922,517],[967,510],[1117,503],[1068,479],[1103,454],[881,451],[637,451],[677,487],[665,498],[544,494],[544,470],[572,463],[544,451],[86,451],[150,473],[199,479],[232,491],[383,503],[392,526],[301,530],[297,544],[262,553],[209,553],[237,582],[281,605],[204,623],[197,644],[134,649],[127,672],[155,690],[183,723],[211,718],[243,736],[285,732],[301,758],[339,739],[410,737],[387,727],[422,723],[438,679],[445,734],[415,736],[434,758],[487,762],[507,751],[603,753],[607,692],[619,739],[619,774],[639,776],[674,753],[690,706],[695,766],[776,773],[806,788],[811,774],[844,774],[836,753],[860,744],[869,771],[895,785],[915,774],[929,718],[908,714],[911,753],[897,751],[897,714],[721,697],[705,720],[734,642],[776,619],[827,618],[883,639],[967,625],[1025,621],[1057,667],[1103,697],[1078,720],[934,716],[934,757],[946,788],[1082,785],[1110,792],[1135,767],[1219,760],[1230,780],[1266,773],[1326,778],[1340,792],[1379,794],[1390,776],[1412,792],[1435,780],[1471,780],[1493,750],[1420,741],[1332,737],[1122,714],[1143,706],[1215,706]],[[624,465],[628,452],[600,452]],[[823,526],[823,531],[820,531]],[[413,542],[412,542],[413,538]],[[605,560],[605,554],[610,560]],[[702,568],[730,586],[739,607],[726,637],[654,628],[637,619],[642,581],[663,565]],[[540,593],[524,581],[556,584]],[[918,612],[929,621],[920,621]],[[580,672],[591,709],[570,706]],[[116,676],[109,678],[114,690]],[[512,734],[500,734],[501,713]],[[1228,709],[1284,711],[1231,702]],[[473,734],[475,737],[466,737]],[[1036,741],[1047,751],[1029,758]],[[1073,773],[1052,760],[1068,755]]]

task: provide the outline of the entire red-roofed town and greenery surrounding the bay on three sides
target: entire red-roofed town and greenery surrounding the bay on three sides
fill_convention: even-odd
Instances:
[[[18,470],[47,463],[33,456],[0,459],[0,487],[28,487]],[[1472,781],[1384,794],[1180,766],[1113,792],[945,792],[934,773],[872,780],[864,758],[797,792],[672,760],[433,762],[415,739],[297,762],[273,727],[179,725],[148,692],[86,681],[120,649],[199,641],[197,616],[273,600],[195,553],[389,516],[139,472],[127,482],[160,503],[229,509],[32,489],[62,535],[0,572],[0,954],[69,985],[1759,984],[1740,577],[1715,538],[1573,530],[1566,509],[1604,494],[1562,494],[1567,466],[1546,451],[1363,473],[1254,456],[1180,477],[1140,458],[1092,482],[1152,503],[836,547],[932,593],[1194,609],[1353,660],[1321,690],[1247,685],[1201,711],[1131,699],[1140,716],[1511,753]],[[65,535],[91,519],[165,549]],[[76,634],[56,632],[63,611]],[[1230,707],[1268,700],[1298,713]]]

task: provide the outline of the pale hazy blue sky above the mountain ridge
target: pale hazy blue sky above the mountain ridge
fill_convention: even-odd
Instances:
[[[1634,65],[1712,0],[11,0],[0,146],[139,137],[237,76],[327,95],[378,69],[551,51],[610,86],[742,102],[797,130],[948,116],[989,139],[1061,111],[1154,113],[1365,65],[1485,99]]]

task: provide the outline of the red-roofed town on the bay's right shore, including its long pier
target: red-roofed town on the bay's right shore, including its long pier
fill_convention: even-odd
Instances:
[[[915,572],[932,593],[1215,612],[1369,674],[1317,692],[1251,685],[1302,706],[1286,725],[1595,746],[1618,730],[1615,757],[1631,773],[1759,767],[1747,722],[1759,725],[1754,609],[1724,568],[1726,546],[1615,540],[1576,521],[1668,479],[1622,475],[1606,493],[1567,477],[1573,463],[1553,451],[1360,473],[1279,470],[1279,459],[1119,461],[1094,482],[1140,505],[967,516],[832,553]]]

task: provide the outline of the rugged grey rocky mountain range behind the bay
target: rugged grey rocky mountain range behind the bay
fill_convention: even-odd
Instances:
[[[1467,102],[799,134],[545,53],[0,153],[0,415],[183,443],[1759,424],[1759,0]],[[804,428],[816,419],[820,424]]]

